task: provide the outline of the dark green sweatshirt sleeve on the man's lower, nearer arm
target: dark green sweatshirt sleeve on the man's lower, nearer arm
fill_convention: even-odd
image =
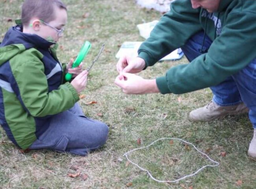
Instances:
[[[246,67],[256,57],[255,20],[252,12],[230,13],[208,53],[157,78],[161,93],[180,94],[217,85]]]

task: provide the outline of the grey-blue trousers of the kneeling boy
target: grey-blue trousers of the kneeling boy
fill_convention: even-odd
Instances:
[[[50,119],[49,128],[28,149],[52,149],[85,156],[108,138],[108,126],[84,116],[78,103]]]

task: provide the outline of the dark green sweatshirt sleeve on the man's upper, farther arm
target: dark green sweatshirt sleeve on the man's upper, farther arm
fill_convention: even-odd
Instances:
[[[139,47],[138,56],[145,60],[146,66],[154,65],[202,30],[199,15],[200,10],[192,9],[190,0],[174,1],[171,10],[162,16],[150,37]]]

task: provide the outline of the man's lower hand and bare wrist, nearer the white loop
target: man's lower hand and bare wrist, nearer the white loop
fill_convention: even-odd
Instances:
[[[126,94],[159,93],[156,80],[145,80],[140,76],[130,73],[121,73],[115,79],[115,84],[122,88]]]

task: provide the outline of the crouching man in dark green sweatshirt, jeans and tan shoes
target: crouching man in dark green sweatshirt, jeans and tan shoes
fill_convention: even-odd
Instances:
[[[124,93],[181,94],[211,87],[212,101],[189,114],[208,121],[245,113],[254,127],[249,156],[256,157],[256,1],[176,0],[171,11],[139,48],[138,57],[122,57],[115,84]],[[182,47],[190,64],[145,80],[138,73]]]

